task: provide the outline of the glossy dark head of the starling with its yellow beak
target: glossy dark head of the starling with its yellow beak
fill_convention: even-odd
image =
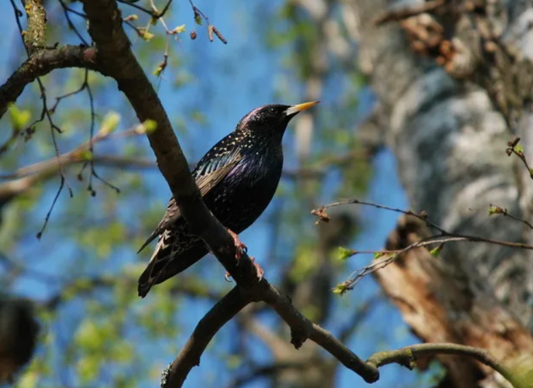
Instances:
[[[297,105],[265,105],[249,112],[237,124],[237,130],[254,134],[281,134],[287,124],[299,112],[319,104],[319,101],[304,102]]]

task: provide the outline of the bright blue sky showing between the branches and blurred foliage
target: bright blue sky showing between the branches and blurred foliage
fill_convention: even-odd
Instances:
[[[214,43],[209,43],[205,30],[196,26],[199,32],[197,40],[191,41],[186,37],[180,43],[173,43],[171,46],[174,53],[171,60],[179,58],[181,66],[177,72],[166,73],[166,80],[161,82],[159,88],[160,98],[169,112],[169,117],[171,119],[190,117],[191,110],[199,110],[206,117],[207,124],[190,120],[186,123],[186,134],[178,133],[182,147],[191,161],[197,160],[211,145],[232,131],[235,123],[249,110],[269,103],[295,104],[301,102],[301,86],[295,87],[291,95],[287,95],[286,98],[274,97],[280,89],[280,78],[276,75],[286,73],[290,79],[290,69],[286,69],[282,64],[287,49],[277,51],[264,49],[264,37],[261,36],[264,26],[258,27],[258,23],[261,23],[261,19],[258,19],[260,13],[274,14],[282,1],[197,0],[195,3],[203,12],[208,14],[212,23],[223,32],[228,44],[223,45],[217,40]],[[16,26],[12,19],[10,3],[8,1],[1,2],[0,22],[5,27],[3,29],[4,38],[0,40],[0,48],[4,53],[13,52],[12,47],[20,45]],[[173,12],[166,19],[166,22],[171,28],[182,23],[186,23],[189,29],[193,27],[188,1],[174,1]],[[69,37],[69,39],[71,39],[71,43],[77,43],[75,38]],[[137,50],[142,50],[143,44],[142,41],[134,40],[134,48]],[[145,68],[148,67],[147,72],[151,72],[158,62],[160,62],[160,58],[153,58],[151,63],[143,64]],[[15,63],[16,60],[14,61],[10,56],[0,58],[0,82],[3,82],[9,75]],[[151,77],[155,80],[153,75]],[[188,78],[192,81],[186,86],[176,88],[173,80],[177,77]],[[116,91],[116,93],[119,92]],[[326,90],[323,104],[317,108],[334,109],[335,102],[328,101],[328,97],[333,97],[333,95],[333,93],[328,94],[328,90]],[[106,96],[97,101],[97,108],[101,110],[112,109],[119,104],[118,101],[115,97]],[[371,98],[367,97],[362,103],[363,107],[369,107]],[[354,113],[354,123],[360,119],[361,114],[364,112]],[[131,112],[130,117],[123,119],[126,122],[134,123],[135,116]],[[5,120],[0,123],[0,128],[1,131],[6,130]],[[290,131],[284,140],[284,148],[286,155],[292,154],[294,144]],[[290,158],[288,159],[290,162]],[[388,206],[407,208],[406,197],[397,180],[395,160],[391,152],[385,150],[378,154],[373,162],[373,167],[375,173],[366,199]],[[156,188],[158,200],[164,206],[170,195],[166,182],[156,171],[146,172],[144,178]],[[53,195],[53,192],[50,195]],[[44,215],[45,211],[46,208],[42,208],[38,213]],[[302,211],[308,212],[308,209],[302,209]],[[387,234],[395,227],[397,215],[375,208],[364,208],[361,216],[364,228],[354,241],[353,247],[364,250],[380,249]],[[241,234],[241,239],[246,241],[249,252],[253,252],[258,258],[268,252],[267,218],[268,212],[254,226]],[[49,240],[42,243],[29,241],[27,249],[42,249],[43,244],[49,246],[55,244],[55,241]],[[58,249],[69,250],[69,247],[58,247]],[[358,260],[360,259],[358,258]],[[214,263],[210,262],[206,265],[212,266]],[[356,269],[356,266],[359,266],[358,263],[351,263],[351,269]],[[42,269],[46,271],[46,268]],[[275,279],[275,274],[273,274],[273,278]],[[34,282],[29,282],[25,283],[22,289],[18,291],[24,295],[38,298],[43,290],[39,289]],[[376,291],[375,282],[371,278],[367,278],[343,298],[364,299]],[[147,303],[147,301],[139,303]],[[177,341],[178,346],[186,341],[197,320],[210,308],[210,304],[207,302],[189,304],[188,316],[183,319],[184,326],[186,326],[184,332],[177,339],[171,339],[171,341]],[[401,324],[399,313],[388,304],[382,304],[377,308],[371,314],[366,325],[367,327],[354,335],[349,343],[350,348],[362,357],[369,356],[377,350],[384,350],[384,346],[395,348],[415,342],[406,327]],[[228,337],[231,336],[227,336],[228,332],[230,329],[225,328],[219,333],[216,340],[230,341]],[[382,333],[381,337],[384,338],[384,341],[383,343],[375,343],[375,338],[380,337],[380,333]],[[369,338],[373,340],[369,341]],[[264,350],[258,350],[258,356],[267,358]],[[167,359],[167,361],[170,360]],[[213,376],[208,376],[208,371],[219,370],[217,369],[219,368],[219,366],[217,367],[218,362],[216,357],[208,353],[205,354],[201,367],[193,369],[185,386],[197,387],[205,384],[206,380],[213,378]],[[399,367],[390,366],[382,369],[382,379],[373,387],[396,385],[398,376],[401,376],[406,386],[414,381],[415,374],[413,372],[402,371],[400,375],[398,373]],[[358,376],[354,376],[353,372],[343,367],[339,369],[338,381],[338,386],[341,388],[365,386]],[[153,386],[153,384],[153,381],[147,382],[146,386]],[[266,387],[266,385],[264,382],[258,381],[247,387]]]

